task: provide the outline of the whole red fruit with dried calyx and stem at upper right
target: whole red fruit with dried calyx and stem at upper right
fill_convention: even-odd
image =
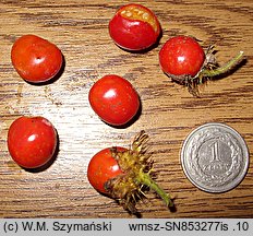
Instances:
[[[161,70],[179,84],[186,85],[189,92],[198,96],[198,84],[207,80],[229,72],[237,66],[243,56],[240,51],[234,58],[219,67],[214,46],[206,51],[190,36],[176,36],[168,39],[159,51]]]

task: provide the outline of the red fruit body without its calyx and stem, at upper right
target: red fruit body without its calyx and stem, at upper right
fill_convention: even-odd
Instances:
[[[173,76],[194,78],[202,69],[205,52],[200,44],[189,36],[176,36],[165,43],[159,51],[161,70]]]

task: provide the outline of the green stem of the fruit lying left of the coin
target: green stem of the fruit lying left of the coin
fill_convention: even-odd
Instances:
[[[173,202],[169,194],[165,192],[152,178],[148,174],[140,172],[138,179],[141,184],[153,189],[160,198],[165,201],[167,206],[173,206]]]

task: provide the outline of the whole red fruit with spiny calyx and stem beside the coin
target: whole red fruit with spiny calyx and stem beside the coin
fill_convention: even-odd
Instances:
[[[148,135],[141,131],[130,149],[107,148],[96,153],[87,168],[91,185],[100,193],[115,199],[130,213],[137,213],[135,204],[144,191],[154,190],[166,203],[173,201],[152,178],[153,162],[147,151]]]

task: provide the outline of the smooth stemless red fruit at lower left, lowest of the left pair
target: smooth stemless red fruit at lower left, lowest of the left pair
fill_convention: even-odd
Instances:
[[[57,132],[44,117],[20,117],[8,132],[9,152],[20,166],[37,168],[45,165],[57,146]]]

